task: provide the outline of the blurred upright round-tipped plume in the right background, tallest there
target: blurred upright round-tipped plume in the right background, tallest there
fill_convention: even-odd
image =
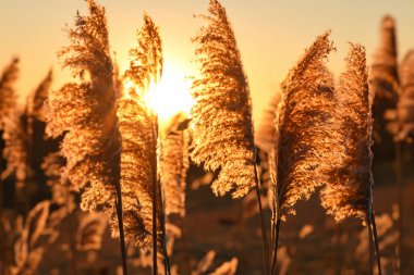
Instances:
[[[394,110],[399,97],[395,22],[385,16],[380,25],[380,43],[373,57],[369,89],[374,96],[374,161],[392,160],[394,157],[393,136],[387,128],[385,115]]]

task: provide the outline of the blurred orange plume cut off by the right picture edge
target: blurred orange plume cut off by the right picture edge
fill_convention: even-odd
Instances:
[[[414,139],[414,50],[409,51],[400,65],[401,96],[397,104],[399,133],[395,139]]]

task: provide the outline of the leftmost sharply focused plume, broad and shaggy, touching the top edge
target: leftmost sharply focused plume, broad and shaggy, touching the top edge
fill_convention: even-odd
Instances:
[[[64,135],[61,154],[66,165],[61,180],[81,191],[81,208],[112,215],[121,151],[112,62],[105,9],[94,0],[86,2],[89,14],[76,14],[75,26],[68,29],[71,45],[59,53],[82,84],[70,83],[50,92],[47,134]]]

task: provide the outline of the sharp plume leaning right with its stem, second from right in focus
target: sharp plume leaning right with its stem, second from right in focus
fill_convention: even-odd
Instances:
[[[332,151],[331,130],[333,80],[325,64],[328,54],[334,50],[329,35],[327,32],[316,38],[281,85],[277,135],[270,160],[273,182],[272,274],[276,273],[281,220],[294,214],[296,202],[308,199],[315,188],[326,183],[321,172],[337,158]]]

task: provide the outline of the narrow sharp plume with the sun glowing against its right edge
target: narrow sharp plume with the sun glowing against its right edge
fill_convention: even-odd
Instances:
[[[118,102],[122,136],[121,189],[125,237],[139,248],[149,249],[153,241],[153,203],[157,203],[157,210],[161,211],[162,202],[160,190],[157,191],[157,201],[153,201],[154,183],[160,188],[157,175],[158,124],[146,98],[148,86],[162,72],[162,45],[159,29],[148,15],[144,15],[137,42],[138,47],[130,51],[130,68],[125,72],[125,80],[133,85]],[[158,213],[157,217],[160,216]],[[160,221],[157,224],[160,225]]]

